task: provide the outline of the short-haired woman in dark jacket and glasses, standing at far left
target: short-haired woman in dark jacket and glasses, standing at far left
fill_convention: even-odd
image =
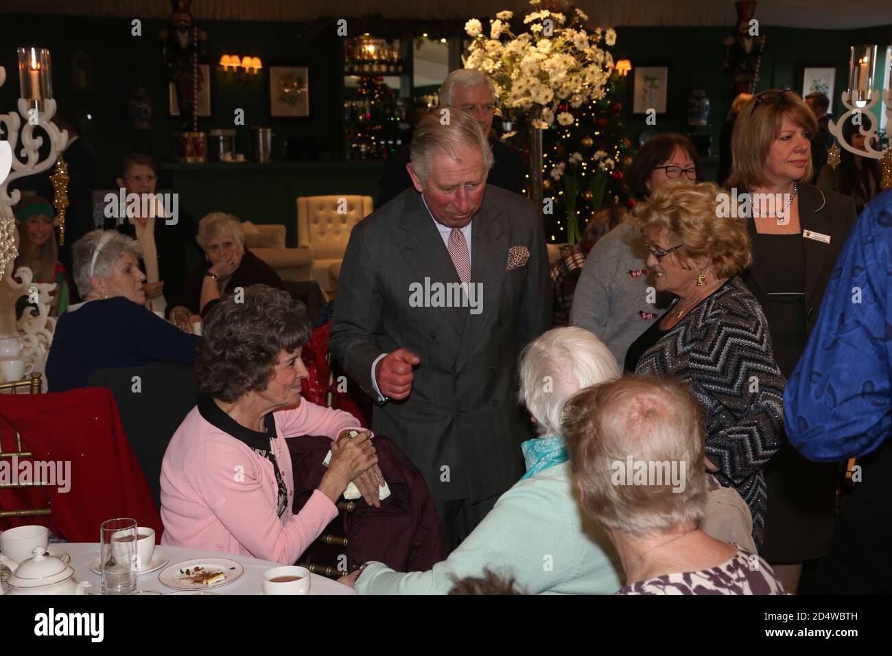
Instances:
[[[158,170],[155,162],[146,154],[128,154],[121,164],[120,178],[115,179],[118,187],[126,193],[140,196],[154,194],[158,183]],[[169,224],[163,218],[163,206],[155,205],[157,212],[143,216],[143,203],[134,209],[128,203],[121,208],[120,216],[105,221],[105,229],[117,229],[139,242],[142,249],[141,268],[145,271],[145,306],[155,312],[163,312],[167,305],[164,293],[173,294],[186,279],[186,248],[194,245],[194,221],[183,212],[178,212],[177,222]]]

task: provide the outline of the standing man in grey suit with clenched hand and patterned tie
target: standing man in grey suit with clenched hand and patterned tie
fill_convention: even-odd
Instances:
[[[450,550],[524,473],[517,355],[551,328],[540,214],[488,186],[491,166],[470,114],[419,122],[413,188],[353,228],[329,341],[378,403],[375,432],[424,475]]]

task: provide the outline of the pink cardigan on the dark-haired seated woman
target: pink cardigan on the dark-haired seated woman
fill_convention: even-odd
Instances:
[[[179,425],[161,462],[161,544],[291,565],[335,519],[335,504],[318,490],[293,514],[293,473],[285,437],[336,439],[344,428],[362,428],[349,412],[302,398],[296,409],[277,411],[273,417],[276,458],[288,488],[282,516],[276,514],[278,486],[272,462],[213,426],[196,406]]]

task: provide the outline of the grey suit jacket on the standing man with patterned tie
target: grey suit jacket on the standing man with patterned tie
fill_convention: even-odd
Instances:
[[[414,188],[361,220],[344,254],[328,342],[373,397],[371,366],[381,353],[405,348],[421,359],[409,397],[376,407],[372,428],[409,456],[438,502],[477,502],[523,474],[517,355],[551,327],[548,253],[533,203],[487,185],[471,230],[471,280],[483,285],[478,314],[410,305],[413,283],[459,282]],[[513,246],[529,259],[508,270]]]

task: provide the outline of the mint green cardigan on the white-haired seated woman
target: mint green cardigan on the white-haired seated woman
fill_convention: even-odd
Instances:
[[[610,538],[582,518],[568,462],[518,481],[502,494],[474,532],[426,572],[403,574],[374,562],[357,594],[447,594],[453,577],[483,569],[511,576],[529,594],[614,594],[622,566]]]

